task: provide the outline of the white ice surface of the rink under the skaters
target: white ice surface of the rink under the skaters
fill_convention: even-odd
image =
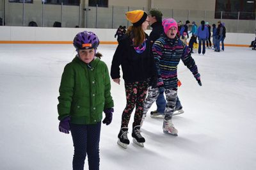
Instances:
[[[99,46],[109,70],[115,49]],[[58,131],[56,105],[63,68],[75,54],[71,44],[0,44],[0,169],[72,169],[72,137]],[[126,100],[124,80],[111,81],[115,112],[111,125],[102,124],[100,169],[256,169],[256,50],[207,49],[193,58],[202,87],[180,61],[185,112],[173,117],[179,136],[163,134],[163,120],[148,115],[141,128],[145,148],[116,144]]]

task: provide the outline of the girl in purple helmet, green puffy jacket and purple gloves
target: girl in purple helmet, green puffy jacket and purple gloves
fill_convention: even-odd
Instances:
[[[99,141],[102,121],[112,121],[108,67],[97,58],[98,37],[89,31],[78,33],[74,38],[77,56],[68,63],[61,77],[58,97],[59,130],[72,134],[74,143],[73,169],[84,169],[88,155],[89,169],[99,169]],[[98,55],[99,56],[99,55]]]

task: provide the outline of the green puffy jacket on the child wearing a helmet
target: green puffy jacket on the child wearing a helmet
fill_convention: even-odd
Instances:
[[[95,58],[90,66],[77,57],[65,66],[58,97],[59,120],[71,116],[71,123],[98,123],[103,109],[114,106],[107,65]]]

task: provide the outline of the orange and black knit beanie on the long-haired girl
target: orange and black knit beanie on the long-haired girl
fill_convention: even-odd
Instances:
[[[129,20],[133,26],[140,26],[146,19],[147,13],[143,10],[134,10],[131,12],[125,13],[126,19]]]

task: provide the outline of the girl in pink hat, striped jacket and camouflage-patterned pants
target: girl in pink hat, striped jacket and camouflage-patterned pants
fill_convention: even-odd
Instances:
[[[149,88],[148,98],[144,104],[144,112],[148,111],[159,93],[164,91],[167,105],[164,111],[163,132],[177,135],[178,130],[173,126],[172,115],[177,98],[177,65],[180,59],[193,73],[198,84],[202,86],[202,83],[188,45],[176,36],[177,22],[174,19],[165,19],[162,24],[164,35],[157,39],[152,47],[157,70],[157,88]]]

